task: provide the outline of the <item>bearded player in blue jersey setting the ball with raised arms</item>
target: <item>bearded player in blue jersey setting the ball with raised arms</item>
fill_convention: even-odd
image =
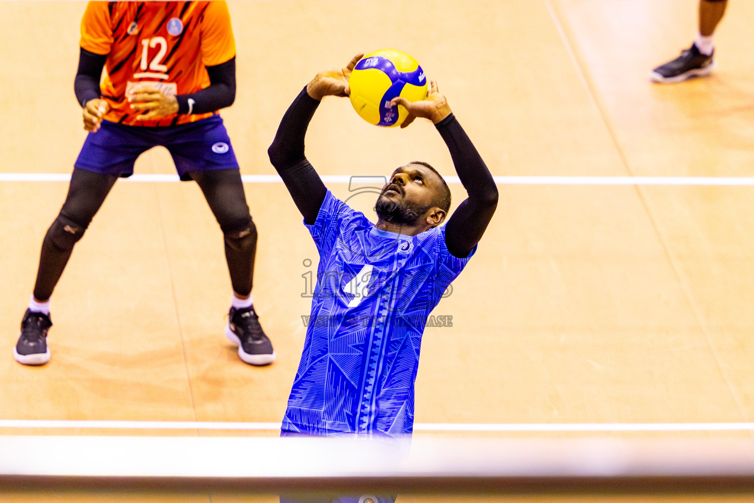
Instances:
[[[425,163],[394,171],[376,201],[376,224],[333,196],[304,155],[304,137],[323,97],[348,96],[348,77],[360,57],[343,69],[320,72],[308,83],[268,150],[320,253],[311,318],[282,434],[400,442],[412,434],[425,321],[474,255],[495,213],[498,190],[432,81],[427,100],[393,101],[410,112],[402,127],[416,117],[428,118],[448,146],[468,198],[447,223],[450,191]],[[338,499],[357,503],[362,498],[333,498]]]

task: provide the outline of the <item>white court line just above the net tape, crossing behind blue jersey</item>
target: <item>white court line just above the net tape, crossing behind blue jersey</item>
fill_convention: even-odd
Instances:
[[[0,428],[101,428],[133,430],[246,430],[273,431],[279,422],[192,422],[192,421],[46,421],[0,419]],[[752,431],[754,422],[692,423],[416,423],[414,431]]]

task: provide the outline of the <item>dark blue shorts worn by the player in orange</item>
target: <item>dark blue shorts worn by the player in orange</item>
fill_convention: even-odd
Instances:
[[[74,166],[95,173],[131,176],[136,158],[158,145],[170,152],[182,180],[190,180],[192,171],[238,169],[231,139],[219,115],[165,127],[102,121],[97,133],[87,135]]]

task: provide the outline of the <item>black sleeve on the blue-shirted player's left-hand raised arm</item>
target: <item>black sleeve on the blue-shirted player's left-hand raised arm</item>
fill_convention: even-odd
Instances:
[[[267,149],[272,165],[283,179],[304,221],[310,225],[317,220],[327,194],[322,179],[304,155],[304,136],[319,105],[320,102],[310,97],[304,87],[285,112],[275,139]]]

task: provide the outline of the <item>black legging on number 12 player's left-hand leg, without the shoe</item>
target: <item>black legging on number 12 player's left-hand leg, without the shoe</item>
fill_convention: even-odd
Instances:
[[[34,285],[37,300],[50,298],[60,275],[63,275],[73,246],[84,235],[117,180],[114,175],[74,168],[66,202],[42,241]]]

